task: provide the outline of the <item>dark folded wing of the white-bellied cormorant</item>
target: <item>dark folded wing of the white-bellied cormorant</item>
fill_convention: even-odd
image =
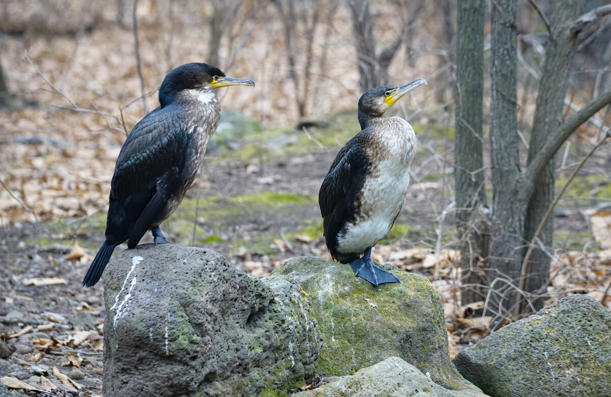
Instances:
[[[324,238],[329,249],[334,244],[334,236],[339,228],[353,214],[353,196],[364,181],[369,163],[361,146],[364,138],[363,134],[357,134],[337,153],[318,192]]]

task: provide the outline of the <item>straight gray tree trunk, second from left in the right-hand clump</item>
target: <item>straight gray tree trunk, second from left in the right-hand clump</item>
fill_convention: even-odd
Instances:
[[[514,302],[511,284],[521,270],[524,204],[516,202],[521,176],[518,156],[517,0],[497,0],[491,11],[490,140],[492,163],[492,238],[488,279],[492,310],[505,317]]]

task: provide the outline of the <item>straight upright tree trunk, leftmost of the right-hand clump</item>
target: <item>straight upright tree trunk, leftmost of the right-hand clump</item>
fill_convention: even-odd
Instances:
[[[485,299],[481,258],[488,257],[488,223],[482,157],[484,79],[484,0],[458,3],[456,42],[455,184],[458,234],[461,237],[461,305]]]

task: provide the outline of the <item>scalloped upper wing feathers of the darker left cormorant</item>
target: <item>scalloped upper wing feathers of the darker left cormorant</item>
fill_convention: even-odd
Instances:
[[[111,199],[145,186],[155,193],[158,178],[171,167],[182,166],[189,134],[182,131],[181,117],[175,112],[155,109],[134,126],[121,148],[111,182]],[[145,204],[146,205],[146,204]]]

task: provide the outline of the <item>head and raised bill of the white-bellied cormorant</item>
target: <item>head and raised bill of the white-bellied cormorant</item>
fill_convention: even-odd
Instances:
[[[366,125],[370,118],[381,117],[403,95],[422,84],[428,83],[425,79],[417,79],[404,86],[380,86],[368,90],[359,99],[360,125],[364,128],[364,123]]]

